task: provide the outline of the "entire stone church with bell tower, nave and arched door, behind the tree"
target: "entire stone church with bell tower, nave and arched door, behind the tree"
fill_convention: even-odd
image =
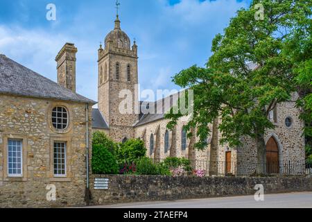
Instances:
[[[257,69],[256,65],[248,64],[249,69]],[[196,168],[205,169],[210,174],[250,173],[256,167],[257,152],[254,141],[242,138],[243,146],[221,146],[218,121],[210,126],[213,133],[208,139],[205,151],[194,151],[192,146],[196,138],[187,138],[183,126],[188,118],[183,117],[173,131],[166,129],[168,120],[164,119],[164,100],[174,103],[172,96],[153,103],[135,102],[144,109],[144,105],[154,106],[163,110],[162,114],[120,114],[119,98],[121,89],[132,92],[136,101],[138,84],[138,46],[136,42],[130,46],[128,35],[121,30],[121,22],[117,15],[114,30],[105,37],[104,49],[98,49],[98,109],[93,110],[93,130],[102,130],[116,142],[124,142],[129,138],[143,139],[146,155],[161,160],[166,157],[186,157],[194,160]],[[294,94],[294,97],[297,96]],[[295,98],[294,98],[295,99]],[[285,171],[282,166],[292,163],[300,164],[300,171],[304,164],[304,137],[302,137],[303,123],[299,119],[300,110],[295,103],[278,104],[270,112],[270,120],[274,122],[275,130],[266,132],[267,162],[271,163],[273,173]],[[220,120],[219,120],[220,121]],[[215,163],[215,164],[207,164]]]

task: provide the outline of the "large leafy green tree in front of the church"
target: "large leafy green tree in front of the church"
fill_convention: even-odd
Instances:
[[[257,17],[258,3],[263,19]],[[211,133],[207,126],[220,118],[222,143],[239,146],[243,136],[250,136],[257,145],[258,162],[266,162],[264,133],[275,127],[268,119],[270,111],[292,100],[300,73],[311,80],[309,67],[300,70],[311,56],[306,55],[311,45],[302,49],[306,37],[311,40],[311,6],[311,0],[253,1],[250,8],[237,12],[223,35],[216,35],[206,68],[193,66],[173,77],[177,85],[193,89],[193,118],[186,128],[197,128],[196,148],[206,146]],[[168,128],[180,117],[180,112],[166,114],[171,119]],[[258,171],[265,171],[265,165],[259,164]]]

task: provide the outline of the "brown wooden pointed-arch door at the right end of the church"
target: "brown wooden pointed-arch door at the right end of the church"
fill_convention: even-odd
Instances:
[[[279,146],[274,137],[266,144],[266,171],[267,173],[279,173]]]

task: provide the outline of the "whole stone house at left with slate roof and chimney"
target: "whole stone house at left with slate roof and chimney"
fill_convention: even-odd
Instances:
[[[76,52],[58,53],[58,83],[0,55],[0,207],[85,205],[96,102],[76,93]]]

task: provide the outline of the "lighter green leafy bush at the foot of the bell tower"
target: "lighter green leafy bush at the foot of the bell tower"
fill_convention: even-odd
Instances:
[[[119,144],[116,151],[118,162],[135,162],[146,155],[146,148],[141,139],[129,139],[124,144]]]

